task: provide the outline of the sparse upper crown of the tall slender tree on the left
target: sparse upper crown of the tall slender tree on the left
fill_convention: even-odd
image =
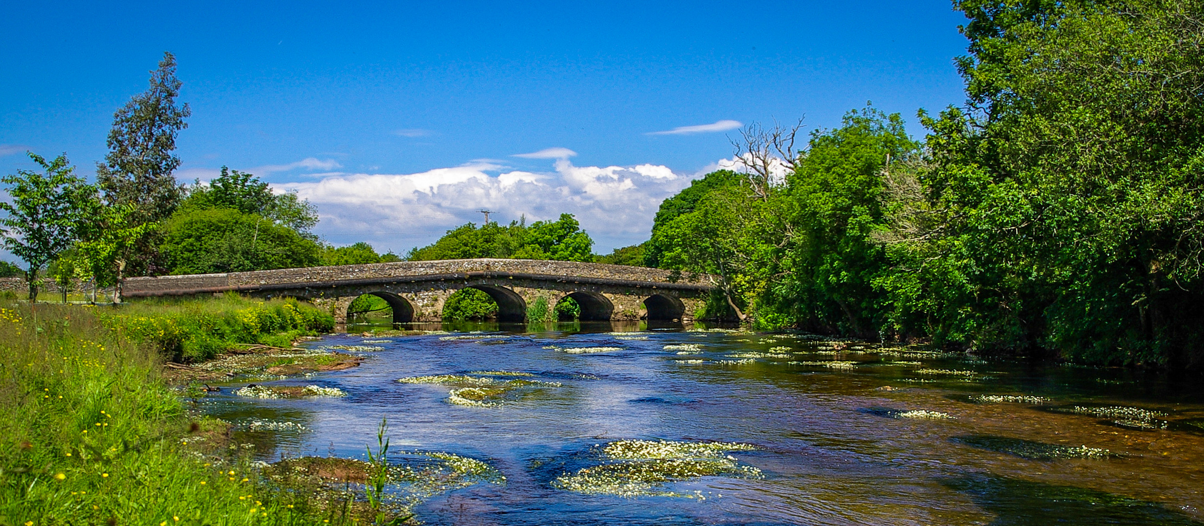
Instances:
[[[176,136],[188,128],[188,105],[176,105],[182,83],[176,57],[164,53],[150,72],[150,87],[113,114],[108,154],[96,164],[96,182],[112,205],[132,205],[136,223],[157,223],[176,211],[182,188],[172,172],[179,166]]]

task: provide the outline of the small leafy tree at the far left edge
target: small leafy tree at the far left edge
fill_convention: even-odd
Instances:
[[[7,217],[0,219],[4,247],[25,261],[29,301],[37,301],[37,271],[71,247],[79,221],[79,203],[92,188],[75,175],[66,154],[47,162],[29,153],[45,173],[18,170],[0,178],[8,184],[12,202],[0,202]]]

